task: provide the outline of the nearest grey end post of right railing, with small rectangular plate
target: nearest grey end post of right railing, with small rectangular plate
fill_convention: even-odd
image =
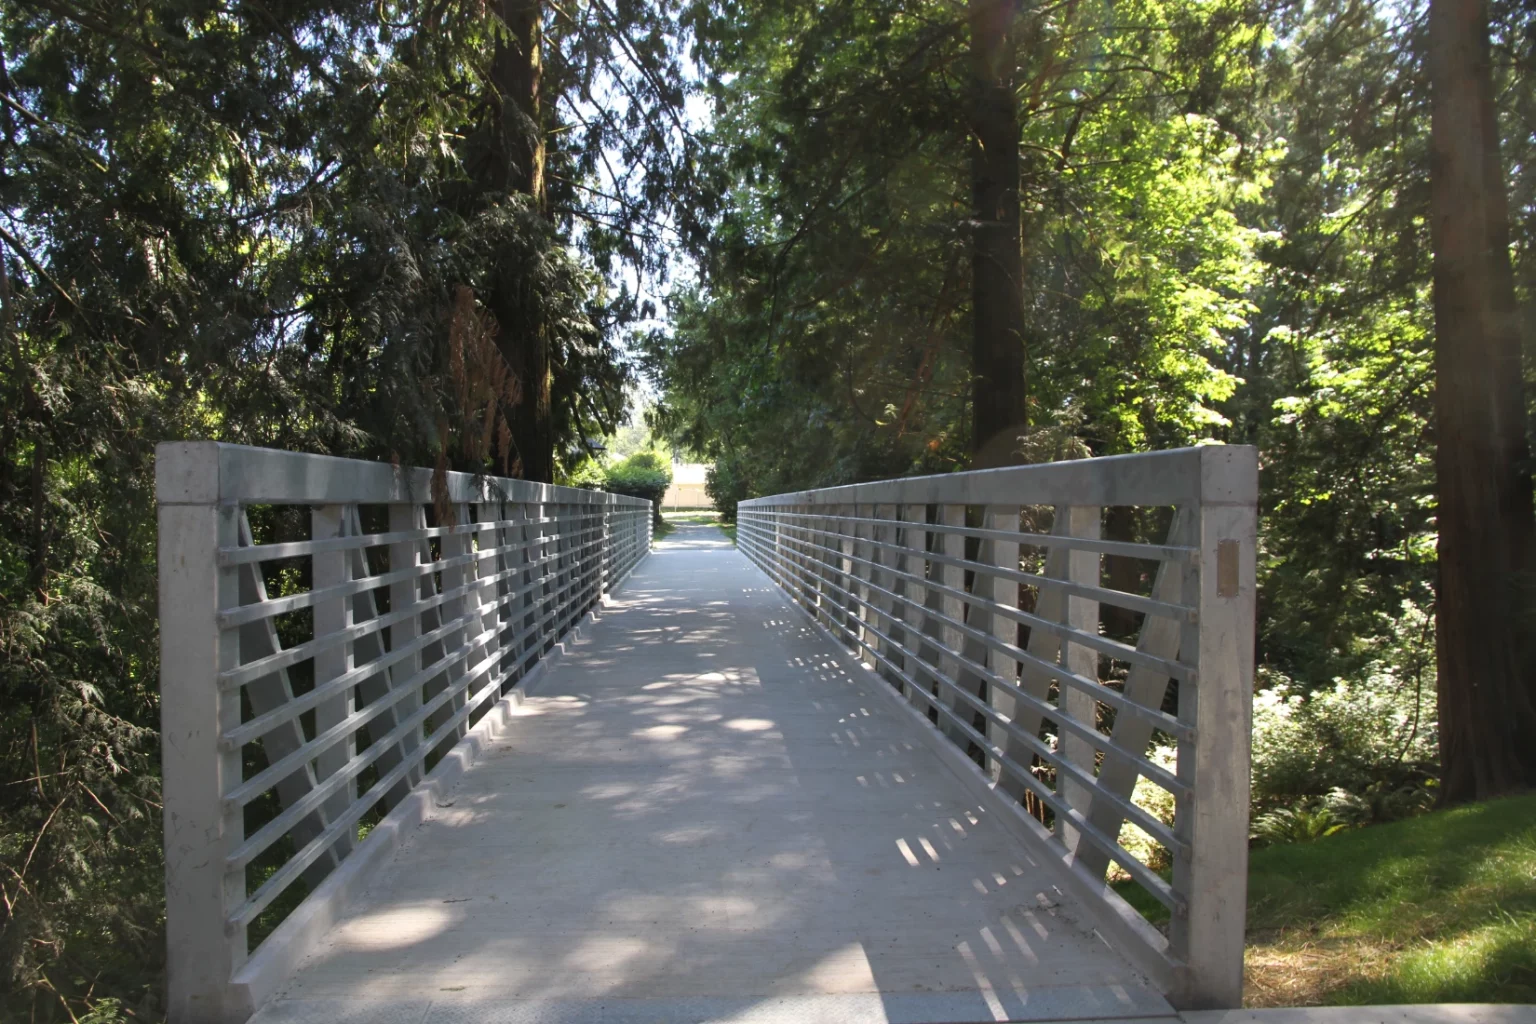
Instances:
[[[1174,877],[1187,909],[1169,930],[1187,972],[1177,998],[1184,1009],[1243,1004],[1256,507],[1255,450],[1204,448],[1197,620],[1184,631],[1186,646],[1193,640],[1197,648],[1198,677],[1178,692],[1178,717],[1195,728],[1193,743],[1180,745],[1178,775],[1192,788],[1175,823],[1190,847]]]

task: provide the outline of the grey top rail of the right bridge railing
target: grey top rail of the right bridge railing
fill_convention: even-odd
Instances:
[[[997,470],[908,476],[788,491],[740,502],[776,505],[1256,505],[1258,448],[1200,445]],[[1243,471],[1247,468],[1249,471]]]

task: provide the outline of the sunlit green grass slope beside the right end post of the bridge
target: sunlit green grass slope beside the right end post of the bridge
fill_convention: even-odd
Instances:
[[[1244,1004],[1382,1003],[1536,1003],[1536,795],[1253,851]]]

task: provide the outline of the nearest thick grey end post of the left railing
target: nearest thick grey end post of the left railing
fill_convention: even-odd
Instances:
[[[240,783],[240,751],[220,734],[240,725],[240,702],[221,700],[218,672],[238,663],[238,631],[218,613],[238,603],[235,570],[218,550],[238,542],[240,510],[220,504],[212,444],[163,444],[155,453],[160,504],[160,729],[166,840],[166,989],[172,1024],[244,1019],[229,979],[246,960],[244,929],[226,915],[246,895],[244,870],[226,869],[243,817],[223,795]]]

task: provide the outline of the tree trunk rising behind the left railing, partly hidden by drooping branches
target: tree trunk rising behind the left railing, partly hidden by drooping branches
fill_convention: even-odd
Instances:
[[[501,0],[499,14],[508,38],[498,41],[492,57],[498,107],[492,167],[502,178],[502,189],[530,197],[535,209],[548,216],[541,97],[544,2]],[[554,479],[553,370],[541,298],[533,293],[527,267],[504,267],[496,293],[485,301],[499,327],[496,344],[522,384],[522,401],[510,418],[522,476],[550,482]]]

